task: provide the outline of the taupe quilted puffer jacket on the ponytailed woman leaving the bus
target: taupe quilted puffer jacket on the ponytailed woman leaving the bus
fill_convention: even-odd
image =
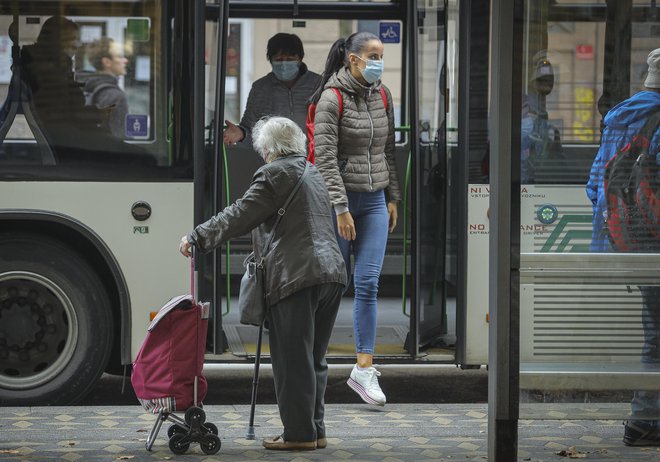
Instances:
[[[383,86],[386,111],[380,86],[380,81],[362,85],[344,67],[328,79],[316,106],[314,156],[337,213],[348,207],[347,190],[387,188],[390,201],[401,200],[394,160],[392,95]],[[341,117],[333,87],[342,93]]]

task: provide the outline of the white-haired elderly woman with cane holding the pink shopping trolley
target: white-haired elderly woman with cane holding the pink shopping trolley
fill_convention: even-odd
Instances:
[[[273,117],[255,125],[253,138],[266,165],[254,174],[241,199],[181,238],[179,250],[185,256],[190,256],[191,245],[208,252],[250,230],[259,249],[271,233],[278,210],[305,169],[305,135],[295,122]],[[333,220],[325,182],[310,164],[265,256],[266,319],[284,425],[282,435],[263,441],[267,449],[316,449],[327,444],[325,353],[347,282]]]

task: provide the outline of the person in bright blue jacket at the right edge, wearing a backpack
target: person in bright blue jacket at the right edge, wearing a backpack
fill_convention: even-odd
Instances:
[[[645,89],[614,106],[605,116],[605,128],[598,155],[587,183],[593,204],[592,252],[613,252],[606,225],[607,202],[603,176],[614,155],[642,131],[650,117],[660,112],[660,48],[653,50],[647,63]],[[660,165],[660,127],[651,137],[649,153]],[[660,287],[640,286],[644,345],[642,364],[660,370]],[[625,423],[623,442],[627,446],[660,446],[660,392],[636,391],[631,403],[631,418]]]

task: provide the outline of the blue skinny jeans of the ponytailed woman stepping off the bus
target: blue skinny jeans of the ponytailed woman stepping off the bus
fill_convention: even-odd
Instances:
[[[355,349],[358,353],[374,354],[378,281],[385,259],[387,227],[389,224],[385,191],[347,191],[347,194],[348,209],[355,222],[356,239],[347,241],[339,236],[336,222],[335,233],[337,234],[339,249],[346,263],[349,280],[351,276],[351,250],[355,259],[355,301],[353,302]]]

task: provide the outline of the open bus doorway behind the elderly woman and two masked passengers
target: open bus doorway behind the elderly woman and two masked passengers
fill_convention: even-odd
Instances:
[[[220,89],[219,95],[211,95],[207,83],[207,107],[209,108],[207,122],[212,127],[209,134],[211,148],[209,149],[209,165],[215,178],[213,187],[206,191],[208,204],[213,204],[213,210],[205,209],[207,216],[216,213],[224,206],[241,197],[249,186],[254,171],[262,161],[253,151],[251,143],[240,142],[233,146],[223,146],[222,130],[224,120],[237,124],[246,107],[252,83],[271,72],[271,66],[266,59],[266,44],[268,39],[279,32],[298,35],[304,45],[303,62],[309,71],[320,74],[331,44],[339,37],[347,37],[358,30],[367,30],[380,36],[385,44],[386,68],[383,81],[390,88],[395,110],[395,125],[399,127],[397,134],[397,170],[400,182],[409,188],[418,181],[416,170],[411,164],[414,153],[411,153],[410,140],[417,139],[410,133],[417,133],[417,118],[410,117],[413,100],[406,82],[414,82],[414,72],[410,71],[411,56],[415,41],[409,40],[408,27],[410,17],[417,14],[416,2],[371,1],[371,2],[241,2],[230,1],[220,4],[207,4],[207,82]],[[443,188],[439,180],[444,175],[442,169],[446,160],[443,159],[444,149],[444,107],[443,95],[438,95],[438,78],[442,66],[438,60],[444,60],[444,16],[443,9],[433,10],[429,17],[435,25],[428,26],[427,31],[420,34],[429,37],[429,45],[425,51],[433,59],[426,81],[430,86],[425,90],[428,105],[424,106],[427,126],[422,133],[422,142],[427,166],[427,172],[433,177],[428,187],[438,191]],[[223,16],[224,15],[224,16]],[[408,18],[408,19],[407,19]],[[438,19],[440,18],[440,19]],[[430,21],[431,19],[429,19]],[[429,23],[430,24],[430,23]],[[226,37],[218,49],[217,37]],[[416,56],[416,55],[415,55]],[[431,69],[432,68],[432,69]],[[217,72],[217,74],[216,74]],[[215,90],[213,90],[215,91]],[[434,112],[435,111],[435,112]],[[432,113],[436,115],[432,115]],[[411,123],[409,123],[409,120]],[[211,123],[214,121],[214,123]],[[412,128],[411,128],[412,125]],[[412,130],[412,131],[411,131]],[[410,132],[410,133],[409,133]],[[213,152],[215,150],[215,152]],[[216,160],[212,160],[216,159]],[[408,172],[408,174],[406,174]],[[427,175],[428,178],[428,175]],[[444,313],[444,249],[437,247],[435,241],[430,243],[434,253],[431,256],[430,247],[427,250],[432,257],[425,260],[425,268],[429,268],[430,277],[425,282],[425,304],[421,316],[417,315],[416,303],[405,303],[414,293],[416,272],[410,261],[415,257],[411,253],[418,237],[413,226],[417,195],[408,194],[405,207],[399,209],[399,225],[388,240],[388,248],[383,265],[381,290],[379,299],[379,327],[377,332],[376,355],[379,360],[405,360],[416,357],[419,351],[420,339],[425,345],[436,342],[441,333],[446,332],[447,322]],[[430,197],[426,195],[426,197]],[[441,196],[433,197],[426,207],[435,208],[429,215],[444,214],[438,210],[438,203],[444,202]],[[407,208],[410,213],[404,213]],[[427,233],[434,234],[443,218],[435,223],[425,223]],[[405,223],[405,225],[404,225]],[[433,237],[433,240],[438,240]],[[444,238],[439,239],[440,242]],[[435,246],[435,247],[434,247]],[[255,352],[257,329],[242,326],[238,319],[237,297],[238,285],[243,274],[243,259],[251,251],[249,236],[232,240],[222,251],[216,252],[215,260],[204,276],[204,281],[214,285],[215,299],[221,306],[222,316],[218,316],[215,328],[222,333],[223,342],[216,342],[216,356],[211,360],[238,360],[248,358]],[[425,269],[426,271],[426,269]],[[432,272],[435,273],[432,273]],[[412,279],[404,278],[410,274]],[[431,276],[433,274],[433,276]],[[214,277],[217,275],[218,277]],[[439,282],[438,282],[439,281]],[[210,286],[209,286],[210,287]],[[229,296],[227,296],[229,295]],[[414,296],[413,296],[414,299]],[[421,329],[418,329],[418,323]],[[341,360],[354,356],[352,322],[352,291],[344,298],[340,313],[335,324],[335,331],[328,351],[330,359]],[[420,337],[421,334],[421,337]],[[264,352],[268,354],[267,348]]]

